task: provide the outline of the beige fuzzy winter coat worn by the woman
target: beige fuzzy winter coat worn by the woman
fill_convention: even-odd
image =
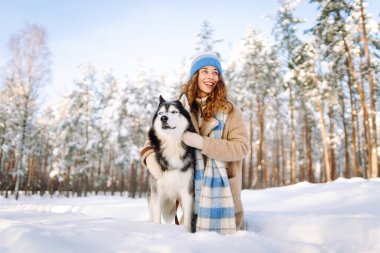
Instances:
[[[204,136],[202,154],[219,161],[226,162],[227,174],[230,182],[232,197],[235,205],[236,227],[238,230],[245,229],[244,211],[241,201],[242,189],[242,162],[248,153],[247,131],[245,128],[242,112],[233,105],[233,111],[227,116],[223,129],[222,139],[208,137],[218,121],[214,118],[203,121],[199,127],[197,116],[191,115],[192,123],[196,131]],[[145,159],[153,149],[147,141],[141,149],[141,162],[146,166]]]

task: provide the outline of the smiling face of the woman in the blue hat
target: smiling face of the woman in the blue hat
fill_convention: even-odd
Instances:
[[[205,66],[199,70],[198,97],[207,97],[216,87],[219,81],[218,69],[213,66]]]

